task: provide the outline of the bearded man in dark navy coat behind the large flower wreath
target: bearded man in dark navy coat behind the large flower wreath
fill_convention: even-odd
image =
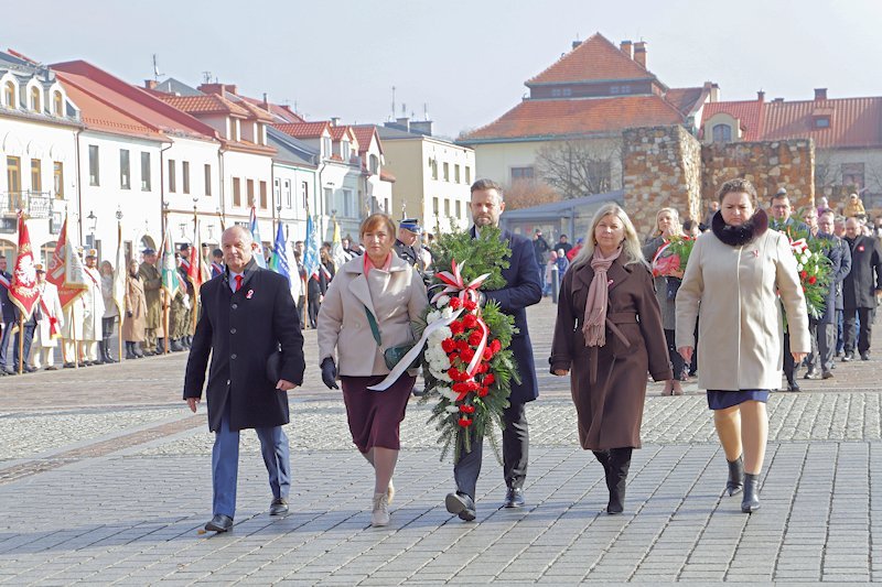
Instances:
[[[472,236],[485,226],[498,226],[499,216],[505,209],[502,187],[490,180],[478,180],[472,185]],[[524,480],[527,477],[527,457],[529,433],[525,404],[539,396],[539,382],[536,379],[536,366],[533,360],[533,344],[527,330],[527,306],[539,303],[542,298],[542,286],[533,244],[525,238],[505,231],[502,236],[508,239],[512,249],[509,268],[502,274],[507,285],[502,290],[482,292],[482,298],[494,300],[499,308],[515,317],[518,334],[512,339],[510,349],[517,361],[520,384],[512,383],[510,405],[503,412],[505,430],[503,430],[503,476],[508,488],[503,507],[520,508],[525,504]],[[472,441],[472,452],[460,455],[453,467],[456,480],[456,492],[447,497],[450,513],[462,520],[475,519],[475,486],[481,474],[483,438]]]

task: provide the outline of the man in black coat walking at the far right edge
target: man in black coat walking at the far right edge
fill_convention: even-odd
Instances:
[[[851,248],[851,272],[842,282],[845,307],[846,356],[843,361],[854,358],[856,316],[861,320],[857,336],[861,359],[870,360],[870,337],[873,333],[875,296],[882,294],[882,249],[875,237],[861,235],[860,220],[846,220],[846,242]]]

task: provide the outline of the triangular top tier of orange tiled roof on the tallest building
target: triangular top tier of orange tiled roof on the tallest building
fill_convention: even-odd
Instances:
[[[605,36],[594,33],[545,72],[527,80],[527,86],[564,81],[646,78],[655,78],[655,76],[622,53]]]

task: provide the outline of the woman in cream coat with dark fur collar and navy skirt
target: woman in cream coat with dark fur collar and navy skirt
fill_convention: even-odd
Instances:
[[[787,237],[768,230],[762,209],[754,213],[753,185],[725,182],[718,200],[711,231],[698,237],[677,293],[677,349],[691,360],[700,316],[698,387],[708,390],[729,461],[727,490],[732,496],[743,488],[741,510],[752,513],[760,508],[768,436],[765,402],[782,378],[778,295],[797,362],[810,349],[808,313]]]

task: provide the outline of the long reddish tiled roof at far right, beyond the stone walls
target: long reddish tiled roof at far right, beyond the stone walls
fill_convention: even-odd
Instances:
[[[745,141],[811,138],[820,149],[882,146],[882,97],[711,102],[702,126],[719,112],[739,119]],[[818,116],[830,117],[830,126],[817,128]]]

